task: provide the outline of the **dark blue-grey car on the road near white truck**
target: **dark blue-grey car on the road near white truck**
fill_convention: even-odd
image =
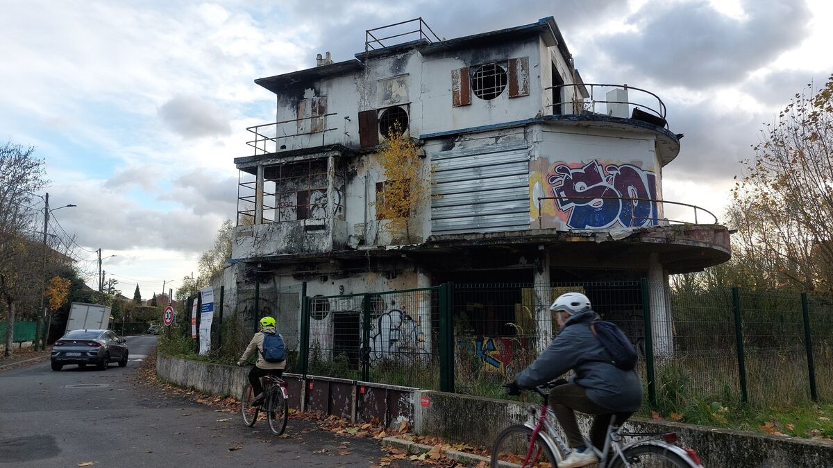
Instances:
[[[128,355],[124,338],[110,330],[73,330],[52,345],[52,371],[60,371],[67,364],[107,369],[111,362],[118,362],[124,367]]]

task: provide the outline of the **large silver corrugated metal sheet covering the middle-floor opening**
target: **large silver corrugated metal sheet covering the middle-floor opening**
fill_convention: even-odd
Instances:
[[[484,139],[486,141],[486,139]],[[431,155],[431,232],[529,229],[525,141],[488,143]]]

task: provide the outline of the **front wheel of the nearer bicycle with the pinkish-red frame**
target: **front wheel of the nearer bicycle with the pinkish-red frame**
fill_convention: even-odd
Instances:
[[[531,443],[532,430],[526,426],[509,426],[501,432],[491,450],[491,467],[521,466],[555,468],[556,457],[539,435]]]

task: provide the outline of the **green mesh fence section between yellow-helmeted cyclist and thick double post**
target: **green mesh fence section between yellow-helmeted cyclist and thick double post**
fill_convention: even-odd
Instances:
[[[302,372],[452,390],[448,285],[312,296],[302,310]],[[445,328],[443,328],[445,326]]]

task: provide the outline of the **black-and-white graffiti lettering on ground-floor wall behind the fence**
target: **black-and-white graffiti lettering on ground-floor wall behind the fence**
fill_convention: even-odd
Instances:
[[[425,336],[419,323],[399,309],[386,311],[373,324],[371,361],[392,356],[415,356],[425,352]]]

